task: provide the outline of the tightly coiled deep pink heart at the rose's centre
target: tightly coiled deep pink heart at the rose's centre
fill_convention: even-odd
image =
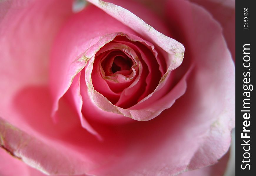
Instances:
[[[129,108],[154,91],[162,73],[157,52],[144,42],[117,36],[96,54],[94,89],[115,106]]]

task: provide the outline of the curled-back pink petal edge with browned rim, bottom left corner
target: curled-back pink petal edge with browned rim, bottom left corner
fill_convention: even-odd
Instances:
[[[2,118],[0,118],[0,135],[1,148],[45,174],[74,173],[75,167],[77,172],[78,167],[83,171],[89,165],[89,162],[83,162],[78,155],[70,154],[69,150],[65,150],[61,146],[58,146],[58,148],[49,146],[20,131]],[[20,163],[16,164],[21,165]],[[26,173],[26,169],[23,169]]]

